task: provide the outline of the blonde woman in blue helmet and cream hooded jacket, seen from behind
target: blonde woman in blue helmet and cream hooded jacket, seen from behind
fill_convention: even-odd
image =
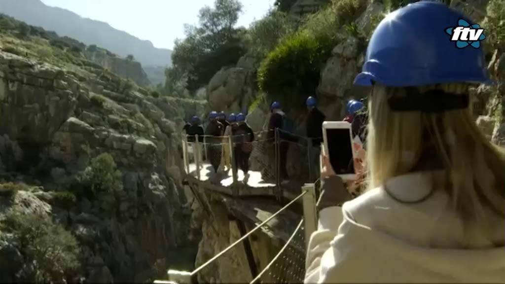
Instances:
[[[422,1],[374,31],[355,80],[373,87],[370,189],[339,207],[349,195],[324,158],[306,282],[505,279],[505,156],[469,109],[469,85],[488,77],[482,49],[445,32],[460,19]]]

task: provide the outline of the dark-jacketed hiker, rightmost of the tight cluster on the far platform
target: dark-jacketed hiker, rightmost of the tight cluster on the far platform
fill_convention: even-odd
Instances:
[[[254,141],[254,132],[245,122],[245,115],[237,115],[237,126],[234,128],[233,137],[235,138],[235,163],[237,168],[244,172],[243,183],[247,184],[249,180],[249,158],[252,152],[252,141]]]

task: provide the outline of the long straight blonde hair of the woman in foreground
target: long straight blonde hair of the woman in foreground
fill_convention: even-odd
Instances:
[[[431,89],[468,93],[468,85],[461,83],[418,88],[421,93]],[[367,141],[370,188],[415,171],[421,159],[436,159],[443,165],[447,177],[444,187],[452,205],[465,219],[485,218],[487,208],[505,216],[505,155],[480,132],[470,109],[442,113],[391,111],[388,99],[406,96],[408,91],[374,86]],[[429,148],[434,151],[426,153]]]

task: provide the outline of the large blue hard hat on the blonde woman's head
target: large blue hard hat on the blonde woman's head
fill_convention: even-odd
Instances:
[[[457,48],[446,32],[471,21],[442,3],[421,1],[387,15],[368,44],[356,85],[421,86],[450,82],[487,83],[482,48]],[[482,37],[480,38],[482,39]]]

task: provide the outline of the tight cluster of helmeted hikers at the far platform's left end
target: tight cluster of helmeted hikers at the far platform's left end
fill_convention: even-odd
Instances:
[[[212,182],[218,179],[217,173],[232,169],[231,157],[234,158],[237,168],[244,173],[243,182],[249,180],[249,157],[252,152],[252,142],[255,135],[249,125],[245,122],[245,115],[234,113],[227,116],[225,112],[212,111],[209,114],[209,123],[205,131],[201,126],[198,116],[193,116],[190,123],[184,125],[187,134],[187,141],[194,142],[198,135],[198,142],[206,144],[207,157],[214,169]],[[204,137],[205,136],[205,137]],[[230,137],[232,149],[230,149]],[[230,150],[233,155],[230,155]],[[201,161],[201,152],[197,151],[198,159]]]

